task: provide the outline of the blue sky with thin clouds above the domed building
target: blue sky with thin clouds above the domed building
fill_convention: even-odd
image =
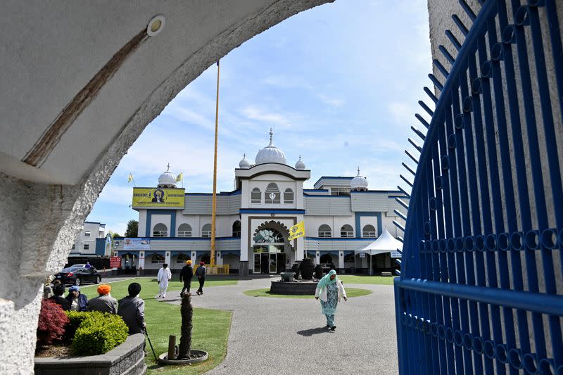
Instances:
[[[430,71],[426,0],[337,0],[262,32],[221,60],[217,191],[233,189],[234,168],[243,153],[253,163],[270,127],[289,165],[302,155],[306,187],[359,166],[369,189],[396,189]],[[212,65],[146,127],[87,220],[124,234],[138,219],[129,172],[156,186],[167,163],[186,191],[212,191],[216,77]]]

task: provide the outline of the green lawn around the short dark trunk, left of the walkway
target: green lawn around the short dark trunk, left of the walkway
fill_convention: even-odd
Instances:
[[[118,300],[127,295],[127,286],[133,281],[141,284],[141,298],[145,300],[145,322],[148,335],[151,337],[156,355],[167,351],[168,336],[177,335],[176,342],[179,343],[179,331],[182,325],[180,308],[178,305],[159,302],[154,296],[158,294],[158,284],[153,277],[138,277],[125,281],[110,283],[111,295]],[[205,280],[206,286],[234,285],[236,280],[217,280],[210,278]],[[197,281],[192,281],[194,286]],[[205,289],[204,287],[204,289]],[[81,286],[80,291],[88,298],[95,297],[97,286]],[[172,281],[168,291],[180,290],[182,284]],[[209,352],[209,360],[189,366],[162,367],[155,363],[153,352],[148,341],[146,343],[146,365],[148,374],[203,374],[213,369],[224,360],[227,353],[227,338],[231,327],[232,312],[223,310],[208,310],[194,308],[194,331],[192,334],[191,347]]]

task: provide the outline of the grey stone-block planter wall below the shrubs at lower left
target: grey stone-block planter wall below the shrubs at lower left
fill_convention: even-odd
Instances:
[[[145,374],[144,343],[144,335],[137,333],[128,336],[125,343],[102,355],[35,358],[35,375]]]

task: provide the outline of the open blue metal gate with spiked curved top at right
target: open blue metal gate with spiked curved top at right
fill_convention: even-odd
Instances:
[[[481,3],[409,139],[400,374],[563,374],[562,4]]]

